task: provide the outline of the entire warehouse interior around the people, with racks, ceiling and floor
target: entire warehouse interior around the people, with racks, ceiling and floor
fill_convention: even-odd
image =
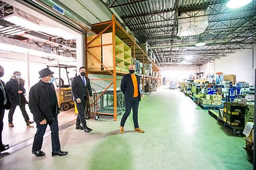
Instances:
[[[255,169],[255,0],[0,0],[1,80],[20,71],[25,97],[54,71],[64,157],[31,154],[36,124],[3,117],[0,169]],[[138,119],[125,112],[122,77],[140,77]],[[86,67],[93,91],[75,129],[70,85]],[[66,91],[65,91],[66,90]],[[62,98],[61,98],[62,97]],[[232,110],[234,109],[234,110]],[[31,120],[33,114],[26,105]],[[131,113],[132,114],[132,113]],[[72,161],[71,161],[72,160]]]

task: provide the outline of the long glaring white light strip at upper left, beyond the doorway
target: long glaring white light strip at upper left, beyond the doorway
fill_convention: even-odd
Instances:
[[[6,16],[6,17],[4,17],[4,19],[11,23],[14,23],[15,25],[18,25],[18,26],[22,26],[22,27],[25,27],[27,29],[34,30],[34,31],[47,33],[50,35],[56,35],[56,36],[59,36],[61,38],[67,39],[67,40],[76,38],[75,35],[70,34],[69,32],[62,30],[60,28],[56,28],[56,27],[50,26],[50,25],[45,25],[44,23],[42,23],[40,25],[40,21],[42,21],[42,20],[39,20],[37,23],[34,23],[27,19],[24,19],[19,16],[15,16],[15,15]],[[42,22],[44,22],[44,21],[42,21]]]

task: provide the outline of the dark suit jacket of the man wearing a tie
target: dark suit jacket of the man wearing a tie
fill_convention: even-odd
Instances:
[[[71,81],[71,92],[74,96],[74,101],[76,101],[76,99],[78,98],[82,100],[84,98],[84,95],[86,95],[87,91],[89,91],[90,96],[93,96],[90,80],[87,77],[85,78],[86,78],[86,87],[84,87],[84,84],[80,75],[74,77]]]

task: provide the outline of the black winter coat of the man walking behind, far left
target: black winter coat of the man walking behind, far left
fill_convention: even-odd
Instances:
[[[22,84],[19,84],[16,79],[10,79],[5,85],[9,98],[11,100],[11,106],[20,105],[20,100],[23,99],[26,90]],[[19,94],[18,91],[22,90],[23,93]]]

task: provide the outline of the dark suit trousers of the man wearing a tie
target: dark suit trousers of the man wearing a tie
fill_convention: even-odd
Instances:
[[[80,125],[82,123],[82,127],[85,128],[86,125],[86,117],[84,113],[87,112],[86,108],[86,98],[81,99],[81,103],[76,102],[76,108],[78,111],[77,118],[76,118],[76,125]]]

